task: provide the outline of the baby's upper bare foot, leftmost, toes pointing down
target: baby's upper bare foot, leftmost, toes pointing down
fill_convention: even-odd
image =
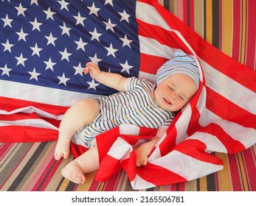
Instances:
[[[60,160],[60,158],[68,158],[70,154],[69,149],[70,140],[69,139],[58,139],[55,148],[55,160]]]

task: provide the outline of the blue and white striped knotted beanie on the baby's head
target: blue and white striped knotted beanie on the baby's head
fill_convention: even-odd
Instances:
[[[186,74],[188,77],[196,82],[196,88],[199,87],[200,74],[198,65],[189,55],[184,51],[176,51],[173,60],[164,63],[156,72],[156,85],[159,85],[167,77],[173,74]]]

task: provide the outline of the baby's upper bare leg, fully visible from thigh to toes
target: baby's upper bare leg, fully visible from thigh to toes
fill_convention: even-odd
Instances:
[[[66,111],[60,122],[58,142],[55,148],[55,160],[69,157],[69,144],[77,130],[94,121],[99,105],[94,99],[82,99]]]

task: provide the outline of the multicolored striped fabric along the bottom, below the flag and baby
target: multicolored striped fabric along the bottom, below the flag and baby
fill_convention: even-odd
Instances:
[[[60,170],[73,157],[55,161],[54,150],[55,142],[1,143],[0,191],[134,191],[124,171],[105,183],[94,180],[95,172],[86,174],[83,185],[69,182]],[[255,152],[252,146],[238,154],[215,154],[224,161],[224,170],[146,191],[256,191]]]

